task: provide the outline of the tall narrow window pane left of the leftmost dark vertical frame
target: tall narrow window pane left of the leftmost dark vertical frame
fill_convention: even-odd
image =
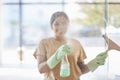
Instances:
[[[17,54],[17,47],[19,46],[19,8],[16,5],[4,5],[2,8],[4,46],[2,61],[8,64],[17,63],[19,61]]]

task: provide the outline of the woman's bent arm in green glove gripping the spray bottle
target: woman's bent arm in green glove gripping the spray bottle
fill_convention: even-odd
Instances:
[[[37,55],[38,61],[38,69],[40,73],[45,73],[53,69],[61,60],[62,58],[70,53],[70,47],[67,44],[60,46],[57,51],[47,59],[45,54]]]

